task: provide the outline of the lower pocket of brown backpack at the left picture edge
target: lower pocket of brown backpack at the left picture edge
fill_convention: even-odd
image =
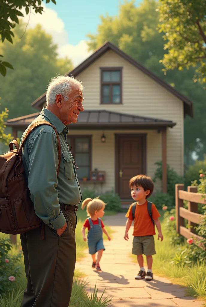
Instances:
[[[15,224],[10,212],[9,202],[6,198],[0,198],[0,231],[15,230]]]

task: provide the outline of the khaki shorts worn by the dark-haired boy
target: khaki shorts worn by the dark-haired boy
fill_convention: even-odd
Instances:
[[[154,249],[154,236],[153,235],[144,235],[136,237],[133,239],[132,247],[133,255],[142,255],[151,256],[155,255],[156,251]]]

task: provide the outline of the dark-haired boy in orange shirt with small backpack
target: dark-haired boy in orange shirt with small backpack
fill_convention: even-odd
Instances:
[[[155,205],[146,200],[151,196],[154,184],[150,177],[137,175],[130,179],[129,186],[135,203],[129,207],[126,214],[128,220],[126,222],[124,239],[129,239],[128,230],[134,220],[132,254],[137,255],[139,263],[139,273],[135,276],[135,279],[144,278],[145,280],[152,280],[152,255],[156,254],[153,237],[155,235],[154,224],[158,230],[158,240],[159,238],[161,242],[163,240],[161,225],[158,219],[160,214]],[[143,254],[147,257],[147,274],[144,269]]]

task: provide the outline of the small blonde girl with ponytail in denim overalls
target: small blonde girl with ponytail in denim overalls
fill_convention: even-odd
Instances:
[[[105,203],[102,200],[98,199],[98,197],[94,199],[86,198],[82,202],[82,209],[84,209],[85,207],[89,218],[85,220],[82,226],[82,235],[84,241],[88,240],[89,254],[92,255],[93,259],[92,268],[95,268],[97,271],[101,271],[99,262],[103,251],[105,251],[102,232],[107,235],[109,241],[111,240],[101,220],[102,216],[105,214]],[[88,228],[87,239],[85,237],[86,228]],[[96,261],[97,252],[98,254]]]

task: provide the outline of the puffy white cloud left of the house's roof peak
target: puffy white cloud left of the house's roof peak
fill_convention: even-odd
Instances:
[[[24,21],[27,22],[29,15],[26,15],[23,10],[22,13],[25,16]],[[68,43],[69,33],[64,29],[64,22],[55,10],[44,6],[42,14],[31,13],[28,28],[34,28],[37,24],[40,24],[46,33],[52,35],[53,42],[58,45],[59,57],[67,56],[72,60],[74,67],[91,55],[92,52],[87,51],[86,41],[79,41],[75,46]]]

